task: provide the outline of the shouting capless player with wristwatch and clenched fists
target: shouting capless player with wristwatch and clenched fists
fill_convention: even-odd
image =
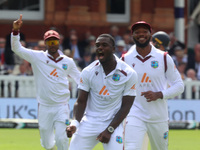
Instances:
[[[92,150],[102,142],[105,150],[123,149],[123,125],[134,98],[137,73],[113,53],[109,34],[96,40],[98,60],[81,73],[74,117],[67,127],[72,136],[69,150]]]

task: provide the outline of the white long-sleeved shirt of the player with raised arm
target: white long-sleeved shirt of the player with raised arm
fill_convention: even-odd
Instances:
[[[37,100],[47,106],[61,105],[70,99],[69,82],[67,76],[77,83],[80,72],[73,59],[61,52],[55,60],[48,52],[36,51],[23,47],[19,42],[19,34],[11,33],[12,50],[31,63],[36,83]]]

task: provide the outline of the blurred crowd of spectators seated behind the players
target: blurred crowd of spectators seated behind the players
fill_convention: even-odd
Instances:
[[[52,27],[51,29],[56,30]],[[110,34],[116,41],[116,56],[119,58],[126,53],[134,44],[130,32],[120,33],[116,25],[110,28]],[[60,32],[59,32],[60,33]],[[185,43],[177,40],[173,33],[168,34],[170,44],[168,54],[172,56],[174,63],[179,70],[183,80],[200,80],[200,43],[196,43],[192,50],[188,50]],[[59,49],[67,56],[74,59],[80,71],[96,59],[95,41],[96,37],[89,31],[85,33],[85,39],[80,40],[76,30],[69,31],[68,36],[60,33]],[[20,33],[21,44],[33,50],[46,50],[43,40],[35,45],[28,45],[25,35]],[[29,62],[15,55],[11,50],[10,34],[7,37],[0,37],[0,75],[33,75]],[[195,90],[195,89],[194,89]]]

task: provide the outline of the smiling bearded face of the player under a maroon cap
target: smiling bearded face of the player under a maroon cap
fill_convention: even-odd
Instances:
[[[145,26],[138,26],[133,32],[133,40],[136,46],[144,48],[151,40],[151,33]]]

